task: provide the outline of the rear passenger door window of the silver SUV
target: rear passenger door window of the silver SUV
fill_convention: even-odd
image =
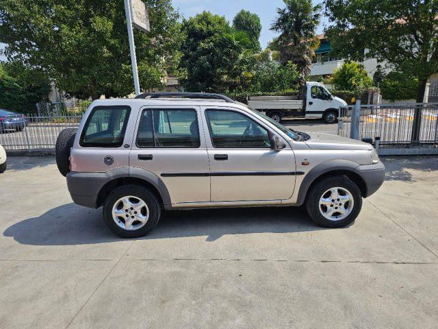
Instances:
[[[138,147],[188,147],[201,145],[196,110],[143,110],[138,125]]]

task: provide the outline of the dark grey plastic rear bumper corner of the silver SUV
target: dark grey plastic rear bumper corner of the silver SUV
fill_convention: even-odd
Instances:
[[[106,173],[67,173],[67,187],[75,204],[98,208],[99,192],[112,178]]]

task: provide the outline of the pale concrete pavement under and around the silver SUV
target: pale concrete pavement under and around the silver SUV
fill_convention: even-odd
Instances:
[[[144,239],[72,203],[52,158],[0,175],[0,328],[437,328],[438,160],[387,158],[356,223],[167,212]]]

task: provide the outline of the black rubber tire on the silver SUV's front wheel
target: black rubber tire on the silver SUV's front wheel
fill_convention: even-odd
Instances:
[[[333,197],[333,194],[329,191],[332,188],[339,188],[338,199],[340,199],[340,202],[337,199],[330,199]],[[350,193],[350,195],[347,193],[342,195],[341,193],[344,193],[344,190]],[[320,205],[320,199],[322,199],[322,197],[324,197],[324,199],[329,201],[331,204],[327,206]],[[352,203],[350,203],[351,201],[346,201],[344,204],[342,204],[342,199],[346,200],[347,197],[352,198]],[[333,200],[335,200],[335,202],[333,202]],[[340,212],[335,210],[335,208],[341,209],[342,206],[344,209],[349,209],[346,212],[346,217],[344,218],[342,218],[344,215],[341,215]],[[334,211],[332,219],[328,219],[322,214],[322,212],[325,212],[326,215],[329,215],[328,207],[331,207]],[[357,185],[348,178],[341,176],[325,178],[324,180],[321,180],[312,186],[311,190],[307,194],[306,209],[309,213],[309,216],[311,219],[313,219],[313,221],[315,221],[315,223],[325,228],[343,228],[344,226],[350,225],[353,221],[355,221],[356,217],[359,215],[359,212],[361,212],[361,208],[362,195],[359,187],[357,187]],[[335,219],[334,217],[339,218]]]

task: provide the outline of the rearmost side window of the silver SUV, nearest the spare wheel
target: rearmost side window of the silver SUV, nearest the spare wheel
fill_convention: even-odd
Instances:
[[[129,106],[96,106],[83,127],[81,147],[120,147],[129,120]]]

